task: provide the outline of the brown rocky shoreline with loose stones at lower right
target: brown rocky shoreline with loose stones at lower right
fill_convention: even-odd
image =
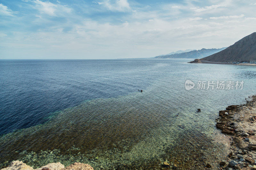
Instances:
[[[246,102],[228,106],[216,119],[216,127],[230,140],[229,154],[219,169],[256,169],[256,96]]]

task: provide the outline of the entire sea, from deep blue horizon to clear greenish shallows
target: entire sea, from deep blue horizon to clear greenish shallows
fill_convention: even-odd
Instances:
[[[218,161],[228,147],[219,110],[256,94],[256,67],[192,60],[0,60],[0,168]]]

